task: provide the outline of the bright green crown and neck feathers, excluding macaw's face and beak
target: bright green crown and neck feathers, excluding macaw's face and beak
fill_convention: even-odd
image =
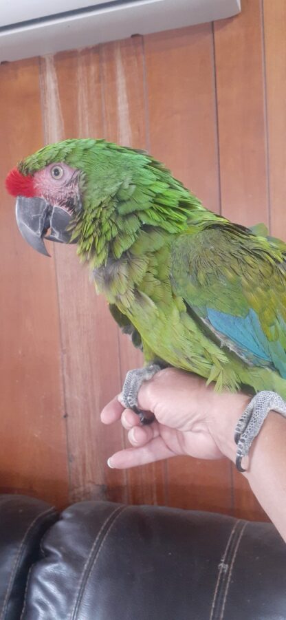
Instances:
[[[143,151],[105,140],[65,140],[34,153],[19,169],[33,173],[51,162],[66,162],[82,172],[83,211],[75,215],[72,238],[78,239],[78,254],[91,268],[106,264],[109,257],[120,258],[150,228],[173,235],[198,215],[217,217]]]

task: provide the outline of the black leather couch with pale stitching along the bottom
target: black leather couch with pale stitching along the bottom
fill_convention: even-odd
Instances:
[[[284,620],[286,545],[268,523],[0,495],[1,620]]]

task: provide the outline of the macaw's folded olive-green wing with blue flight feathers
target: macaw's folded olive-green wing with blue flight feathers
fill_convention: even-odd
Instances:
[[[225,221],[177,237],[173,288],[200,325],[245,362],[244,374],[267,367],[285,378],[286,245],[253,233]]]

